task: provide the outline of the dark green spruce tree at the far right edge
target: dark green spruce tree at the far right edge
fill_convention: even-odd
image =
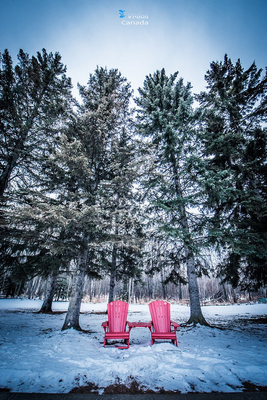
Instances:
[[[197,98],[209,237],[223,249],[224,282],[257,289],[267,283],[267,73],[225,55],[205,79],[208,90]]]

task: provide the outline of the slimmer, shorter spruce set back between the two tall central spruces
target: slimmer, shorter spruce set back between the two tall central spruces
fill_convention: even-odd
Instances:
[[[137,181],[140,159],[137,156],[133,124],[128,121],[114,139],[110,155],[110,174],[102,182],[102,208],[107,215],[104,246],[107,272],[110,274],[108,302],[115,299],[119,279],[140,278],[141,246],[144,240],[138,196],[133,184]],[[111,222],[111,228],[109,228]]]

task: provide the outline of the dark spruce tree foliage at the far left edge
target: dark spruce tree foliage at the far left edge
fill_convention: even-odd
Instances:
[[[0,58],[0,268],[23,287],[60,264],[54,219],[49,225],[44,217],[54,205],[42,181],[70,113],[71,81],[59,53],[43,49],[30,58],[20,50],[15,67],[8,50]]]

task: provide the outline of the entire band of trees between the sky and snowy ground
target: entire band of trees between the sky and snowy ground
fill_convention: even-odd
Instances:
[[[97,67],[77,100],[59,53],[1,54],[2,293],[39,293],[42,312],[68,298],[63,329],[80,330],[96,287],[109,302],[186,295],[188,325],[208,325],[204,277],[224,301],[264,292],[267,72],[225,55],[205,80],[193,95],[156,71],[133,108],[117,69]]]

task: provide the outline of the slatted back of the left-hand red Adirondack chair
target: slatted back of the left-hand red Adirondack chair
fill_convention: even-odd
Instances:
[[[108,331],[109,332],[125,332],[126,319],[128,313],[128,303],[116,301],[108,303]]]

